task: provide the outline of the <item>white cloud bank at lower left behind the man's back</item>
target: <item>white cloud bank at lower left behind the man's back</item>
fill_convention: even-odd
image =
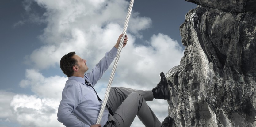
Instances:
[[[15,95],[0,91],[0,123],[18,123],[26,127],[62,127],[63,124],[57,121],[57,110],[67,77],[44,77],[34,69],[27,69],[25,77],[20,86],[30,87],[35,94]]]

